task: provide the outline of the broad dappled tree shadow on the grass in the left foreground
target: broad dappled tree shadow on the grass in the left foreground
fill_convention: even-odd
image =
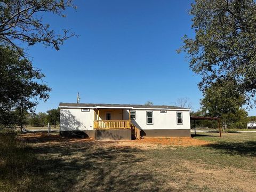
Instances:
[[[55,141],[54,145],[43,143],[49,140]],[[40,191],[45,186],[52,191],[158,191],[164,180],[145,169],[143,150],[115,146],[116,141],[53,137],[28,142],[41,143],[33,147],[37,159],[29,174],[44,187],[34,188],[34,183],[32,187],[23,186],[21,191]]]

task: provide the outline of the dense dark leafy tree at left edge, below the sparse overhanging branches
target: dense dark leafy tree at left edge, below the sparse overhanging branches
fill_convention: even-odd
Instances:
[[[25,111],[34,112],[38,99],[49,98],[43,77],[18,51],[0,46],[0,124],[10,124],[16,110],[22,129]]]

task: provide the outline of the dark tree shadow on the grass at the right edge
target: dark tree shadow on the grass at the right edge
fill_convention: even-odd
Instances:
[[[206,145],[206,147],[211,147],[220,150],[221,153],[230,155],[256,156],[256,141],[219,142]]]

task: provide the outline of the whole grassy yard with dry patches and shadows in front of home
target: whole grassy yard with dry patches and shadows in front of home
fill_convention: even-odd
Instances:
[[[253,191],[256,133],[202,133],[206,146],[15,139],[0,134],[0,191]]]

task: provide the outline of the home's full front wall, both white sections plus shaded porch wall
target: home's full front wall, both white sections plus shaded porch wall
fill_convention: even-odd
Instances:
[[[131,109],[136,111],[132,123],[142,130],[190,129],[188,110]],[[165,109],[166,110],[166,109]],[[112,120],[129,119],[129,109],[100,109],[100,120],[105,119],[106,111],[111,111]],[[123,114],[122,114],[123,111]],[[153,111],[153,124],[147,124],[146,111]],[[177,111],[182,112],[183,124],[177,124]],[[119,118],[119,119],[118,119]],[[94,110],[81,111],[81,108],[60,108],[60,131],[93,130]]]

